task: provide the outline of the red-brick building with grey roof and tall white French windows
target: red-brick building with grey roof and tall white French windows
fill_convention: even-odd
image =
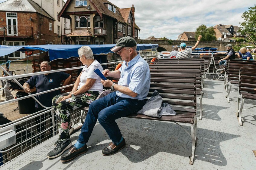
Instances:
[[[5,27],[6,45],[43,45],[52,43],[54,18],[32,0],[8,0],[0,4],[0,27]],[[0,44],[4,44],[4,32],[0,31]],[[25,57],[16,51],[11,59]]]

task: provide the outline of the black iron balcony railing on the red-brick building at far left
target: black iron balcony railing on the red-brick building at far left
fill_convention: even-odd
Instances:
[[[5,27],[5,36],[33,36],[33,27],[24,25],[0,25]],[[0,36],[3,36],[4,32],[0,31]]]

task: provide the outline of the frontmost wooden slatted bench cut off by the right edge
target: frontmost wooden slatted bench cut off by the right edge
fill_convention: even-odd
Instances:
[[[242,110],[244,107],[245,99],[256,100],[256,69],[245,68],[245,67],[240,68],[238,89],[239,89],[238,112],[236,113],[236,115],[239,121],[239,125],[242,126],[243,125]],[[241,101],[241,105],[240,105],[240,101]]]

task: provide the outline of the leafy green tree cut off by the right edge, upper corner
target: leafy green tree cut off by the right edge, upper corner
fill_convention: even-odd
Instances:
[[[241,16],[245,20],[239,23],[241,25],[241,33],[243,35],[247,33],[252,39],[256,40],[256,5],[248,9]]]

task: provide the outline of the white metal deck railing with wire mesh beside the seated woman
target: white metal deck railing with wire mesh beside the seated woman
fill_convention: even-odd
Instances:
[[[145,60],[151,59],[153,57],[144,58]],[[110,63],[102,63],[101,65],[108,65],[108,64],[115,64],[120,63],[120,61],[116,62],[110,62]],[[0,66],[1,68],[2,66]],[[2,67],[3,68],[3,67]],[[61,71],[67,71],[67,70],[77,70],[81,69],[83,66],[80,67],[73,67],[73,68],[66,68],[66,69],[60,69],[60,70],[51,70],[51,71],[45,71],[45,72],[38,72],[38,73],[29,73],[29,74],[22,74],[22,75],[14,75],[14,76],[8,76],[8,77],[0,77],[0,81],[7,81],[10,79],[17,79],[17,78],[23,78],[28,77],[32,75],[40,75],[40,74],[47,74],[47,73],[55,73],[55,72],[61,72]],[[29,97],[34,97],[39,94],[45,94],[54,90],[59,90],[61,88],[70,87],[73,86],[66,85],[60,88],[55,88],[52,90],[47,90],[44,92],[36,93],[36,94],[29,94],[28,96],[8,100],[5,102],[1,102],[0,105],[7,104],[7,103],[13,103],[15,101],[23,100]],[[39,102],[40,103],[40,102]],[[81,116],[81,110],[73,110],[71,111],[71,119],[73,119],[73,122],[71,124],[78,125],[79,119]],[[1,123],[2,124],[2,123]],[[2,154],[3,161],[0,162],[4,165],[11,161],[12,159],[17,158],[18,156],[21,156],[24,152],[27,152],[28,150],[32,149],[33,147],[37,146],[38,144],[46,141],[47,139],[53,137],[54,135],[58,134],[57,129],[57,115],[54,114],[52,107],[45,107],[43,110],[32,113],[28,116],[24,116],[20,119],[17,119],[12,122],[4,123],[0,125],[0,134],[9,130],[14,129],[16,131],[16,143],[0,150],[0,157]],[[72,125],[72,127],[73,127]]]

